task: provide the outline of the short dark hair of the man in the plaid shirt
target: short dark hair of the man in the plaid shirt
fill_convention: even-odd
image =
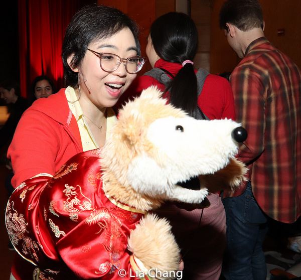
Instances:
[[[244,32],[253,28],[263,30],[263,13],[259,2],[257,0],[226,0],[219,14],[220,28],[227,30],[227,23]]]

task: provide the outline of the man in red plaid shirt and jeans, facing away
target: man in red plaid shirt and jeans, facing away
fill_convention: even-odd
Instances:
[[[301,199],[301,73],[264,37],[257,0],[226,0],[220,27],[241,58],[230,76],[236,120],[248,131],[239,158],[247,182],[223,194],[227,217],[227,280],[265,280],[267,222],[293,223]]]

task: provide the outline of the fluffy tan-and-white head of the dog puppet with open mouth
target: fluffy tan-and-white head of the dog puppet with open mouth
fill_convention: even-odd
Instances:
[[[159,207],[164,200],[200,203],[207,186],[190,190],[179,182],[215,174],[238,150],[231,136],[238,123],[196,120],[166,104],[161,95],[150,87],[127,103],[102,152],[107,195],[143,210]]]

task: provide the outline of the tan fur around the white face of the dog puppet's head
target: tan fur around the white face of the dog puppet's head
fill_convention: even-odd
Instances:
[[[144,97],[135,99],[123,107],[119,121],[113,128],[113,138],[106,143],[101,160],[105,182],[103,188],[107,194],[137,209],[147,211],[160,207],[163,201],[135,192],[126,180],[127,167],[135,156],[143,152],[152,153],[160,159],[157,149],[145,137],[150,123],[167,116],[186,116],[182,110],[167,105],[165,99],[158,98],[161,95],[161,91],[150,87],[143,91]]]

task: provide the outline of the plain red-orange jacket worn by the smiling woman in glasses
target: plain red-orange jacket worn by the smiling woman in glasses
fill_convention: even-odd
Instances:
[[[8,150],[16,188],[41,173],[54,175],[71,157],[83,152],[74,115],[69,109],[65,89],[40,98],[25,111]]]

